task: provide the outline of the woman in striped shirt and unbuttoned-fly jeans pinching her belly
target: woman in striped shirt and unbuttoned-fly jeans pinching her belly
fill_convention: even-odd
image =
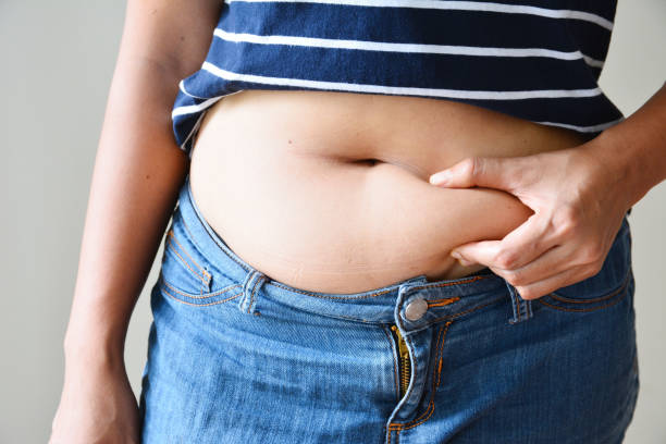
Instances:
[[[51,442],[620,442],[666,91],[523,3],[130,1]]]

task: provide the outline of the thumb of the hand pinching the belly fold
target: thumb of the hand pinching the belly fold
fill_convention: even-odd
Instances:
[[[516,185],[518,158],[471,157],[430,176],[430,183],[446,187],[482,186],[509,190]]]

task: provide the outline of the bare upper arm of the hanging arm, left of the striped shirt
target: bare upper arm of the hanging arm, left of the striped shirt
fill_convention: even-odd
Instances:
[[[222,7],[222,0],[127,0],[119,60],[149,60],[186,77],[206,59]]]

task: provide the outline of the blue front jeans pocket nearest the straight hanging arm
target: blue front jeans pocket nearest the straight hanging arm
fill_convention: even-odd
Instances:
[[[158,286],[162,294],[187,305],[211,306],[240,296],[242,285],[213,271],[175,210],[164,238]]]

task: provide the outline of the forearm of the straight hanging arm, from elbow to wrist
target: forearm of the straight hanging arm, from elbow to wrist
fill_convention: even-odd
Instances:
[[[122,365],[130,317],[155,260],[187,156],[171,130],[176,75],[119,59],[88,198],[65,356]]]

